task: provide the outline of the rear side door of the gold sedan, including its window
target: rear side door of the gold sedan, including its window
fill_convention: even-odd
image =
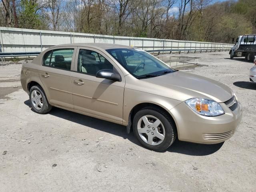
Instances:
[[[73,109],[71,69],[76,47],[58,47],[44,54],[38,72],[51,104]]]

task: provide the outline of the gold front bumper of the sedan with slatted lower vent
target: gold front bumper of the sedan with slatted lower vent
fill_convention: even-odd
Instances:
[[[233,111],[226,104],[220,103],[225,114],[215,117],[197,114],[185,102],[172,108],[170,113],[176,123],[178,139],[202,144],[220,143],[229,139],[242,118],[242,106],[237,102]]]

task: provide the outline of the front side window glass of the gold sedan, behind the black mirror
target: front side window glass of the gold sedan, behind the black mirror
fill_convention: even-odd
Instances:
[[[96,76],[102,69],[113,70],[112,64],[97,52],[92,50],[80,49],[78,54],[77,71],[88,75]]]

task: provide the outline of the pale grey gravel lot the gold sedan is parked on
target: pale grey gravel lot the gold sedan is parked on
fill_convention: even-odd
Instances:
[[[243,118],[230,140],[176,140],[167,151],[153,152],[124,126],[58,108],[36,114],[20,87],[21,65],[0,66],[0,191],[256,191],[253,64],[230,60],[228,52],[180,56],[200,58],[185,61],[192,66],[182,70],[218,80],[240,99]]]

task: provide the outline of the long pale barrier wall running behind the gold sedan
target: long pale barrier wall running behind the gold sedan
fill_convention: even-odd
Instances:
[[[0,44],[2,52],[41,52],[53,45],[83,42],[122,44],[135,46],[144,50],[228,49],[233,46],[232,44],[210,42],[136,38],[0,27]]]

